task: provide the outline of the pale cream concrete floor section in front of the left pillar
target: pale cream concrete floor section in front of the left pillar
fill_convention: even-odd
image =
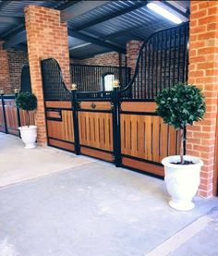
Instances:
[[[0,132],[0,187],[93,162],[51,147],[28,150],[18,137]]]

